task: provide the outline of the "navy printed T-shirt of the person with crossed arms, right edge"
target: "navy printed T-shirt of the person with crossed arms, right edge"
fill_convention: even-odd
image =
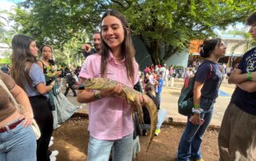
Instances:
[[[256,72],[256,48],[250,49],[244,54],[238,69],[242,70],[242,73]],[[256,115],[256,92],[246,92],[237,87],[234,90],[231,102],[243,112]]]

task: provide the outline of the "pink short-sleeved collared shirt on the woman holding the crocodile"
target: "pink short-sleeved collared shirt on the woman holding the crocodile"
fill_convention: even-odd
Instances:
[[[125,59],[116,63],[110,53],[107,64],[106,77],[133,87],[138,81],[138,63],[134,60],[134,84],[132,84],[126,72]],[[79,77],[101,77],[101,55],[95,53],[86,57],[82,65]],[[130,107],[126,101],[118,97],[107,97],[88,104],[89,107],[89,131],[96,139],[114,140],[122,139],[123,136],[134,132],[134,124],[131,117]]]

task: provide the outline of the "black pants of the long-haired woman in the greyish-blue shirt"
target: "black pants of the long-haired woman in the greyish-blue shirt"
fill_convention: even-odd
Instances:
[[[36,120],[41,132],[41,137],[37,141],[37,160],[50,161],[48,146],[50,143],[50,136],[54,131],[54,118],[50,111],[50,104],[46,97],[42,95],[30,97],[30,104],[33,108],[34,120]]]

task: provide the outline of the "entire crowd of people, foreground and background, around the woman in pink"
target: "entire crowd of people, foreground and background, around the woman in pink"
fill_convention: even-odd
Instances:
[[[256,39],[256,13],[247,20],[250,33]],[[186,128],[181,136],[177,159],[179,161],[203,161],[201,143],[213,116],[223,75],[231,73],[226,65],[219,65],[224,57],[226,45],[220,38],[206,40],[200,47],[204,61],[193,63],[186,69],[167,65],[147,65],[141,73],[134,59],[135,49],[131,31],[122,13],[108,10],[102,14],[101,32],[94,33],[94,49],[82,45],[86,57],[82,67],[71,69],[55,65],[50,45],[38,49],[32,37],[16,35],[12,40],[12,66],[8,73],[0,72],[0,160],[56,160],[58,151],[49,151],[54,128],[69,119],[79,107],[71,104],[66,96],[71,89],[79,103],[88,104],[89,132],[87,160],[132,160],[134,120],[131,104],[118,97],[122,84],[144,92],[158,108],[158,124],[155,135],[159,135],[166,109],[160,108],[162,88],[168,86],[172,77],[194,77],[194,108],[187,116]],[[38,60],[38,52],[42,54]],[[237,87],[222,120],[218,135],[220,160],[252,160],[256,148],[256,49],[250,49],[237,69],[229,75],[229,83]],[[62,94],[63,78],[66,77],[66,92]],[[78,78],[79,77],[79,78]],[[111,91],[74,90],[74,84],[82,84],[88,78],[107,77],[120,82]],[[7,90],[7,91],[6,91]],[[8,92],[26,109],[21,114],[10,101]],[[143,105],[148,100],[139,95]],[[145,124],[138,124],[142,135],[149,130],[150,116],[142,108]],[[32,120],[36,120],[41,137],[36,140]]]

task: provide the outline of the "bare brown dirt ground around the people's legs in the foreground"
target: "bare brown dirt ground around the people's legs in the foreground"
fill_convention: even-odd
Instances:
[[[89,120],[83,116],[74,116],[54,130],[54,145],[51,150],[58,150],[58,161],[86,160],[89,132]],[[184,127],[164,124],[161,133],[154,137],[146,153],[148,136],[140,136],[141,151],[135,161],[173,161],[176,160],[179,139]],[[202,155],[206,161],[218,160],[218,131],[206,132],[202,141]]]

